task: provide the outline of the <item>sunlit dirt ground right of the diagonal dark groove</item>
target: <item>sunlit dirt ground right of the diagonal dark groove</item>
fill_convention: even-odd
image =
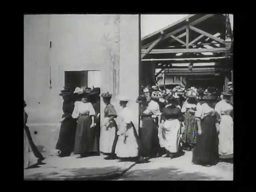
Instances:
[[[136,164],[115,180],[233,180],[233,164],[219,162],[204,167],[191,162],[192,152],[184,156],[154,158],[144,164]]]

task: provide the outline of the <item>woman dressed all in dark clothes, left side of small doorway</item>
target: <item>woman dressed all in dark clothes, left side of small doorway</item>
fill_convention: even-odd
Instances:
[[[74,110],[74,95],[71,90],[65,89],[61,91],[60,96],[63,97],[63,115],[61,119],[60,134],[56,149],[60,150],[59,157],[70,156],[74,150],[75,135],[76,135],[76,120],[71,114]]]

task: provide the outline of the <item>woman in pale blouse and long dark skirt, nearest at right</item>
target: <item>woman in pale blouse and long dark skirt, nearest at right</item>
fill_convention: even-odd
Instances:
[[[192,162],[203,166],[218,163],[218,113],[214,110],[216,96],[208,94],[204,103],[197,106],[198,135]]]

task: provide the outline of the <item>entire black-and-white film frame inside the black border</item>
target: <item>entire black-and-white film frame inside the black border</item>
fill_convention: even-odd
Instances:
[[[24,180],[234,180],[233,14],[23,19]]]

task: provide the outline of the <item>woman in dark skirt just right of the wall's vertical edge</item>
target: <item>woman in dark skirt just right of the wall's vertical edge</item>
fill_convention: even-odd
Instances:
[[[139,96],[136,102],[141,104],[139,138],[142,142],[142,147],[139,149],[139,160],[142,162],[148,160],[152,154],[154,132],[157,128],[152,118],[152,112],[147,109],[148,104],[146,96]]]

